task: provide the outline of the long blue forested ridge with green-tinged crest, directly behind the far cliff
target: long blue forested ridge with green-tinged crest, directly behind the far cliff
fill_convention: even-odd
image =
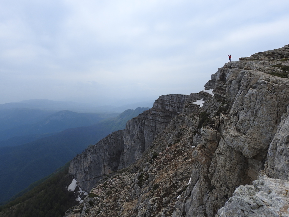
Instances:
[[[89,144],[124,129],[128,120],[147,109],[129,109],[92,126],[67,129],[21,146],[0,147],[0,202],[63,166]]]

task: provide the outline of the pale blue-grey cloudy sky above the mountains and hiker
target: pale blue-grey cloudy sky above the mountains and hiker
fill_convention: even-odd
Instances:
[[[232,55],[289,44],[288,0],[0,1],[0,104],[198,93]]]

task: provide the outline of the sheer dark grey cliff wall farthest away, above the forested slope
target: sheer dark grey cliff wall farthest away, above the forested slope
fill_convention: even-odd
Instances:
[[[113,132],[96,145],[76,156],[69,174],[78,186],[89,191],[103,176],[124,168],[140,158],[155,136],[162,132],[178,113],[189,95],[160,96],[153,108],[126,123],[126,129]]]

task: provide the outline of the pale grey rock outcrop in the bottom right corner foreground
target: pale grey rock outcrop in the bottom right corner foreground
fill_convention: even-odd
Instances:
[[[288,191],[287,180],[260,177],[253,185],[239,186],[216,217],[289,216]]]

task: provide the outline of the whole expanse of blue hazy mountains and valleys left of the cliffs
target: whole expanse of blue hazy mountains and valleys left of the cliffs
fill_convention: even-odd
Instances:
[[[0,203],[48,176],[89,145],[124,129],[126,121],[150,108],[115,112],[134,106],[130,104],[106,107],[106,112],[104,107],[98,108],[102,113],[57,111],[92,109],[81,106],[51,100],[0,105]]]

